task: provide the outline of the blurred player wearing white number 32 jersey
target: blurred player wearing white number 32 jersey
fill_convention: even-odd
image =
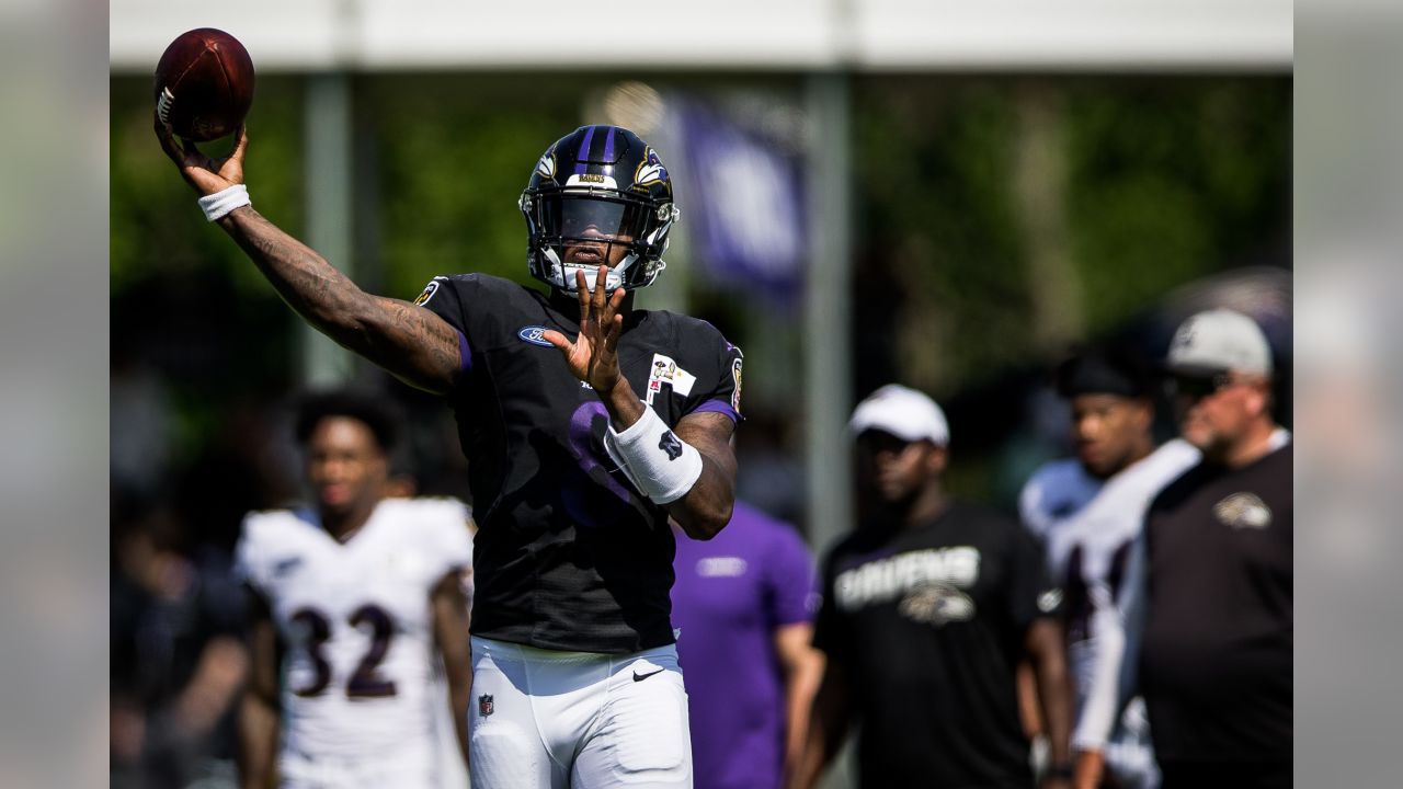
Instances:
[[[389,498],[394,421],[330,393],[297,420],[314,507],[254,512],[237,566],[251,590],[241,783],[439,786],[435,663],[467,758],[467,508]]]

